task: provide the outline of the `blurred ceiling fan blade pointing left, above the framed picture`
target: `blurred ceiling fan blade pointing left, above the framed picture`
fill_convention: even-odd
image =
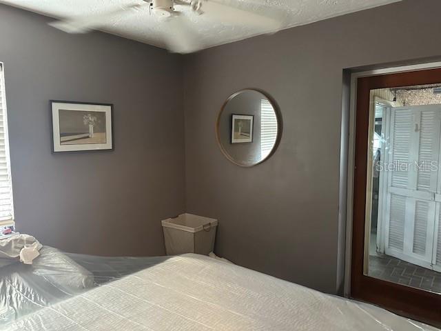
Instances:
[[[107,21],[110,21],[110,19],[114,17],[119,17],[122,12],[126,12],[128,10],[136,10],[146,5],[150,5],[150,3],[143,2],[129,6],[121,6],[120,8],[116,8],[107,12],[101,12],[99,14],[74,17],[72,19],[54,21],[48,24],[54,28],[68,33],[87,33],[96,28],[101,28],[101,26],[107,23]]]

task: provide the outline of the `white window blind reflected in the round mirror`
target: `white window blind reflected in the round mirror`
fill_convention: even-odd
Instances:
[[[268,100],[260,101],[260,154],[262,159],[268,156],[277,139],[277,118],[273,106]]]

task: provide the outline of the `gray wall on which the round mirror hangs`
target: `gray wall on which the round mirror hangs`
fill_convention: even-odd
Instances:
[[[186,56],[187,211],[220,220],[217,254],[338,291],[343,69],[440,56],[440,12],[439,0],[405,0]],[[223,157],[213,127],[248,87],[276,99],[284,131],[271,159],[244,169]]]

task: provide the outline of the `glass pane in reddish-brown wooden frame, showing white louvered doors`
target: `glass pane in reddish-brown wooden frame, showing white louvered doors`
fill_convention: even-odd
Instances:
[[[365,274],[441,294],[441,84],[371,90]]]

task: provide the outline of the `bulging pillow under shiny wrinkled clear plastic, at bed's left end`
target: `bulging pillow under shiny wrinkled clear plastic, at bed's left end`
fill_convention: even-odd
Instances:
[[[0,329],[7,322],[94,285],[92,273],[59,250],[43,246],[40,252],[32,265],[0,258]]]

